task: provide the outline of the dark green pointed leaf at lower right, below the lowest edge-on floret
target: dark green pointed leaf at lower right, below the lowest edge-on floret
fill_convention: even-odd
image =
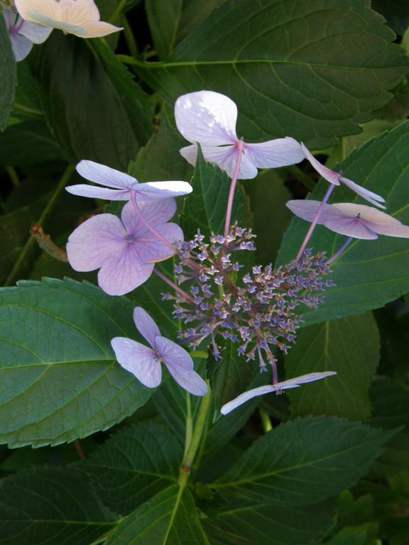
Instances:
[[[392,434],[334,417],[296,419],[258,439],[210,486],[268,505],[319,502],[365,475]]]

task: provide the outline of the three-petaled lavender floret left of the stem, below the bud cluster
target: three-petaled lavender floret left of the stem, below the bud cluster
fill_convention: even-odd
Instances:
[[[136,376],[148,388],[162,380],[163,362],[170,375],[192,395],[205,395],[207,385],[193,369],[193,360],[178,344],[160,335],[155,321],[141,307],[133,310],[136,329],[151,345],[145,346],[126,337],[114,337],[111,346],[119,365]]]

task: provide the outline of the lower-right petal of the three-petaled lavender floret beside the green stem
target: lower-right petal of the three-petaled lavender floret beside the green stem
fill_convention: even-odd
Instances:
[[[207,384],[193,370],[193,361],[185,348],[165,337],[156,338],[156,347],[170,375],[192,395],[205,395]]]

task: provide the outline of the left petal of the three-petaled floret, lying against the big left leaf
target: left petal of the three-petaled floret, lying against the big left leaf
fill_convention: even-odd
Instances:
[[[152,348],[131,338],[114,337],[111,340],[116,360],[148,388],[156,388],[162,380],[162,368]]]

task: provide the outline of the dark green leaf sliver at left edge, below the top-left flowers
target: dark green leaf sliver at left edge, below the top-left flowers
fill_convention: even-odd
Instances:
[[[4,17],[0,13],[0,131],[7,126],[16,87],[16,59]]]

